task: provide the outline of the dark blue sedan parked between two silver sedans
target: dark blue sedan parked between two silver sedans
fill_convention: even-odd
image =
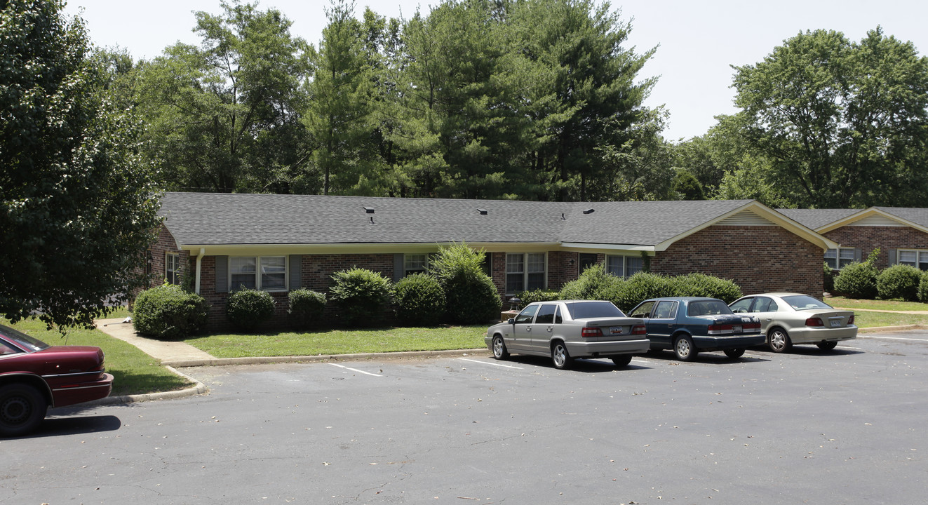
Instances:
[[[747,347],[767,340],[759,318],[736,316],[715,298],[651,298],[632,309],[631,315],[644,319],[651,350],[673,349],[680,361],[692,361],[706,351],[738,358]]]

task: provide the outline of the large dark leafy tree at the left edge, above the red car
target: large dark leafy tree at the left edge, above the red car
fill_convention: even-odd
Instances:
[[[141,281],[153,170],[83,21],[59,0],[0,7],[0,314],[90,325]]]

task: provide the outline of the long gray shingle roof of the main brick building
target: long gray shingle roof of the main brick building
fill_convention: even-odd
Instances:
[[[166,193],[161,215],[181,245],[452,241],[655,245],[750,202],[591,203]],[[365,207],[373,208],[374,213],[367,214]],[[584,214],[586,209],[595,211]]]

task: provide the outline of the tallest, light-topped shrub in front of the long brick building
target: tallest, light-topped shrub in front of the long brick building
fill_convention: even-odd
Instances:
[[[429,262],[429,273],[445,290],[445,317],[459,324],[499,318],[502,301],[493,279],[483,273],[486,254],[467,244],[442,247]]]

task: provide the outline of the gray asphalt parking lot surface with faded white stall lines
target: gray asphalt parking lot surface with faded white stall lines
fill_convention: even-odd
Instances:
[[[0,503],[921,503],[928,332],[629,368],[489,353],[184,371],[0,439]]]

